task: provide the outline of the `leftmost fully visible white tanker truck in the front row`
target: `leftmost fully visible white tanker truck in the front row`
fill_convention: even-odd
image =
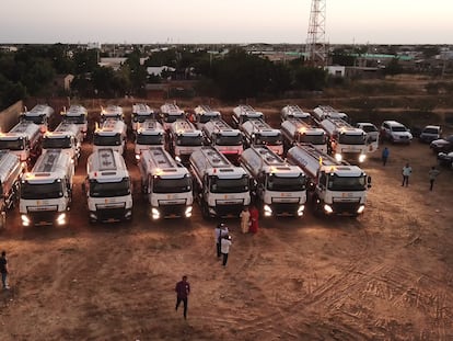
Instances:
[[[67,225],[74,164],[63,149],[45,150],[21,180],[19,211],[23,226]]]

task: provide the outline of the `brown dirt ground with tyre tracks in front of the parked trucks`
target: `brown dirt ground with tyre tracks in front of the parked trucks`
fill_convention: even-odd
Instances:
[[[379,155],[364,166],[364,215],[262,218],[253,236],[228,220],[223,269],[216,220],[196,207],[188,221],[153,223],[138,185],[131,224],[90,226],[85,144],[70,226],[23,228],[15,211],[0,232],[12,286],[0,293],[0,340],[452,340],[453,172],[429,192],[429,147],[388,146],[386,167]],[[127,159],[137,182],[131,144]],[[174,309],[183,274],[187,320]]]

